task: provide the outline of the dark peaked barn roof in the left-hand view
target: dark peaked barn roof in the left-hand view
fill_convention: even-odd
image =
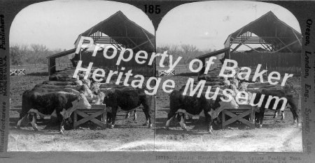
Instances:
[[[80,40],[81,36],[88,37],[97,31],[106,34],[120,44],[130,45],[131,49],[137,47],[142,50],[152,51],[154,49],[155,40],[153,34],[129,20],[120,10],[106,20],[81,33],[75,45],[77,45],[76,43]]]

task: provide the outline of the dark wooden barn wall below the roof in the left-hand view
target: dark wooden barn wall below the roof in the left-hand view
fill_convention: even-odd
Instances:
[[[151,53],[152,54],[152,53]],[[151,58],[151,54],[148,53],[148,59]],[[127,58],[129,54],[125,54],[125,58]],[[111,56],[111,54],[108,54]],[[116,65],[118,61],[119,52],[116,54],[116,57],[113,59],[106,59],[103,55],[103,52],[97,52],[96,56],[92,56],[91,52],[83,52],[81,55],[81,59],[83,61],[83,66],[87,67],[87,65],[92,62],[93,67],[97,68],[109,68],[109,70],[118,70],[122,71],[121,68],[124,67],[125,70],[123,72],[127,72],[128,70],[132,70],[133,75],[144,75],[146,77],[154,76],[154,63],[152,65],[148,65],[148,59],[146,63],[139,64],[135,61],[134,56],[131,61],[125,62],[120,61],[120,65]],[[139,59],[143,61],[143,59]]]

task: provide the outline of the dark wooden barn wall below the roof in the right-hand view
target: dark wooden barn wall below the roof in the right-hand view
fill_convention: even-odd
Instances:
[[[233,53],[231,59],[237,61],[239,67],[250,67],[255,72],[258,64],[262,64],[260,70],[280,72],[281,75],[290,73],[300,76],[301,73],[301,54],[300,53]]]

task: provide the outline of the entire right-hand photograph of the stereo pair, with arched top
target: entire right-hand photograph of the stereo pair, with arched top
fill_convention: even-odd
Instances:
[[[156,95],[155,150],[302,152],[302,34],[286,8],[183,4],[163,17],[156,43],[172,55],[157,75],[175,88]]]

